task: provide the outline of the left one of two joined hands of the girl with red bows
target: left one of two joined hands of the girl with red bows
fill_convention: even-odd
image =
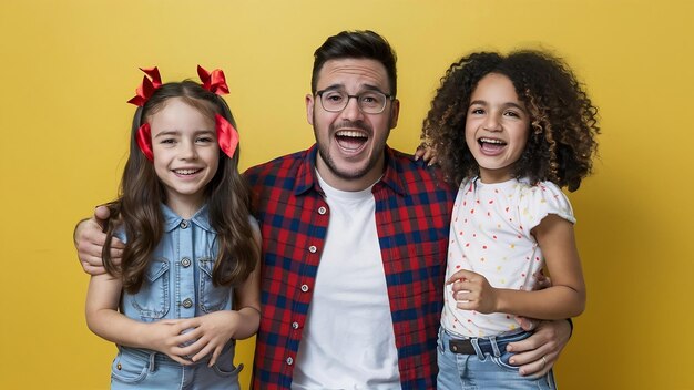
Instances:
[[[182,345],[194,341],[190,333],[183,333],[187,328],[187,319],[164,319],[156,322],[146,324],[146,335],[144,345],[157,352],[165,353],[171,359],[181,365],[188,366],[191,360]]]

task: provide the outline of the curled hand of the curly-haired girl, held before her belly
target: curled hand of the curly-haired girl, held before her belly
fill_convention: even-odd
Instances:
[[[482,275],[461,269],[453,274],[446,284],[452,284],[456,306],[463,310],[477,310],[481,314],[499,311],[498,290]]]

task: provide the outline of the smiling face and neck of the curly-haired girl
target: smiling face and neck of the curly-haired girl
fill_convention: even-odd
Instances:
[[[509,78],[489,73],[470,96],[466,143],[480,167],[482,183],[513,177],[512,167],[528,143],[530,116]]]

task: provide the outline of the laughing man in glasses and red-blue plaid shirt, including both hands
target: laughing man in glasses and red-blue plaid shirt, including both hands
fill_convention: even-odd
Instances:
[[[328,38],[306,96],[316,145],[246,172],[264,254],[256,389],[436,388],[455,192],[386,145],[396,86],[380,35]],[[75,235],[88,271],[100,264],[96,226]],[[542,322],[512,346],[525,351],[517,363],[547,372],[569,333],[567,321]]]

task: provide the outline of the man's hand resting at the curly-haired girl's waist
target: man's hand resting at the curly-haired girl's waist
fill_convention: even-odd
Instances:
[[[517,353],[510,362],[520,366],[521,376],[542,377],[554,366],[570,337],[568,320],[541,321],[532,336],[509,343],[507,350]]]

